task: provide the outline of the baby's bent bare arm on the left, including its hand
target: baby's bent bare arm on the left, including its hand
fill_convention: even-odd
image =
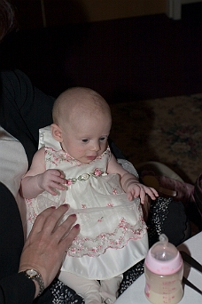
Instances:
[[[21,180],[20,194],[26,198],[34,198],[46,190],[56,196],[54,188],[64,190],[62,184],[66,184],[62,172],[45,169],[44,148],[40,148],[33,157],[29,171]]]

